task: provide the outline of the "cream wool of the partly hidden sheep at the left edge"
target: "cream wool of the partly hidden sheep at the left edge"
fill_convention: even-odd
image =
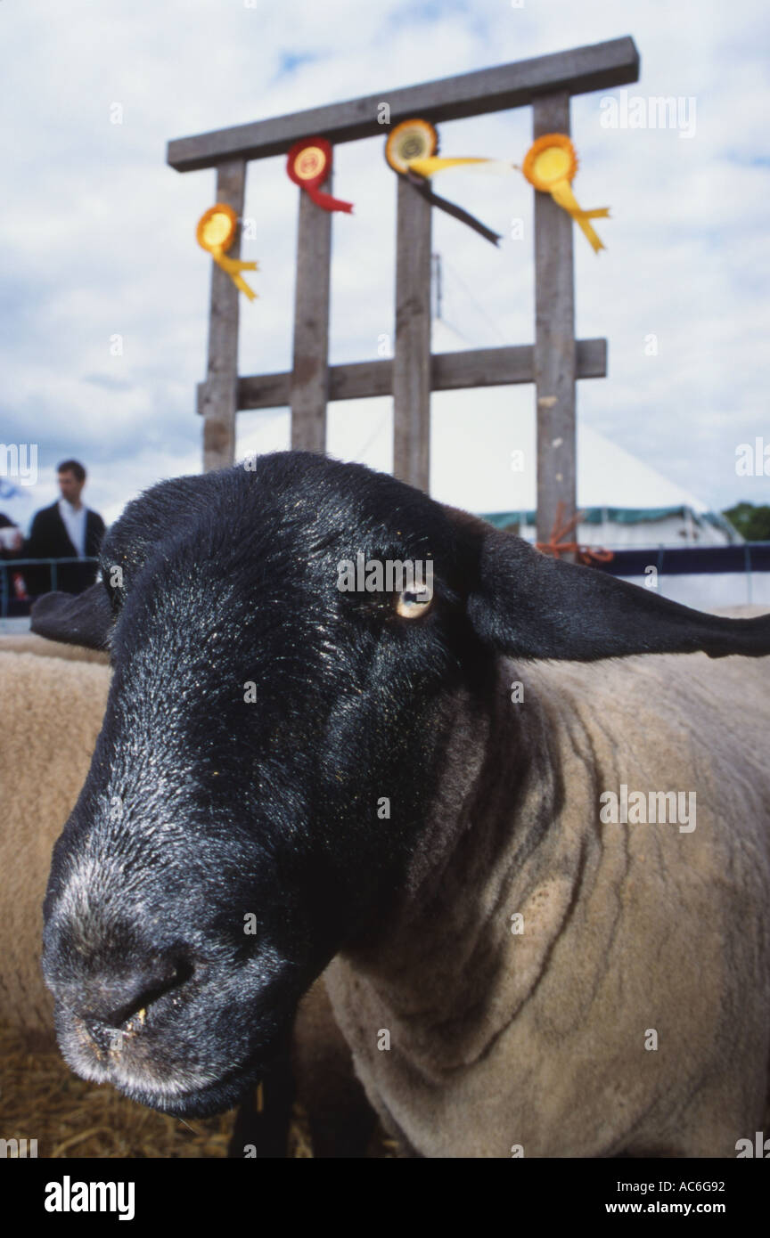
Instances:
[[[42,903],[53,843],[88,774],[109,678],[106,666],[0,655],[0,1021],[30,1034],[53,1035],[40,972]]]

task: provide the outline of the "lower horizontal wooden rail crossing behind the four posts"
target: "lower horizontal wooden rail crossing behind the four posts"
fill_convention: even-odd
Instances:
[[[578,339],[578,379],[607,378],[607,340]],[[457,353],[433,353],[431,359],[433,391],[454,391],[459,387],[509,386],[535,381],[535,349],[532,344],[514,348],[474,348]],[[291,371],[254,374],[238,384],[238,407],[280,409],[288,404]],[[204,384],[198,387],[201,411]],[[363,400],[368,396],[391,395],[392,361],[352,361],[329,366],[329,400]]]

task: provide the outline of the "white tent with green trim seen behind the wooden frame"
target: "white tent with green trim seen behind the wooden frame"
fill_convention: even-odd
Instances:
[[[387,397],[329,406],[329,454],[392,469],[392,411]],[[238,457],[285,451],[287,411],[241,413]],[[530,386],[441,391],[432,397],[431,494],[500,527],[519,525],[535,540],[535,410]],[[578,413],[577,539],[621,546],[723,546],[742,541],[708,504],[651,464],[592,430]]]

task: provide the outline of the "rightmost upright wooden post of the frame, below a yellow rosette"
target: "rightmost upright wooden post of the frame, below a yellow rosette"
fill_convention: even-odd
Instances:
[[[532,104],[532,136],[569,134],[569,95]],[[574,515],[576,348],[571,217],[550,193],[535,193],[535,396],[537,401],[537,541],[551,540],[558,503]],[[572,541],[573,537],[568,537]],[[571,557],[571,556],[565,556]]]

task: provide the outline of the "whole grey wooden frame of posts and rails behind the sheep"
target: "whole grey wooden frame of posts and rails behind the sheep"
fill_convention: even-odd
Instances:
[[[178,172],[217,168],[217,201],[243,214],[246,162],[286,154],[301,137],[332,144],[384,137],[409,116],[439,123],[532,106],[532,136],[569,132],[573,94],[639,79],[630,37],[480,69],[438,82],[380,92],[168,144]],[[329,188],[327,186],[327,188]],[[204,468],[235,458],[239,410],[291,406],[293,448],[323,451],[329,400],[394,396],[394,473],[428,489],[431,391],[534,383],[537,401],[537,536],[548,541],[558,504],[576,506],[576,380],[607,374],[607,343],[574,339],[573,224],[548,194],[535,191],[535,344],[431,355],[431,207],[397,181],[396,329],[392,360],[328,364],[332,215],[298,191],[293,358],[290,373],[238,374],[238,290],[213,264],[207,379],[198,387]],[[231,256],[239,255],[239,239]]]

